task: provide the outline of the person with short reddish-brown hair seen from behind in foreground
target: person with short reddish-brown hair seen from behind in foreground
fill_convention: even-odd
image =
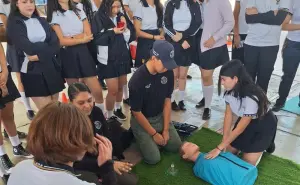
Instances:
[[[22,161],[14,167],[8,185],[100,185],[96,176],[78,174],[73,169],[74,162],[87,151],[96,151],[95,143],[102,185],[116,185],[111,142],[103,136],[94,137],[88,116],[75,106],[50,103],[30,124],[27,148],[34,160]]]

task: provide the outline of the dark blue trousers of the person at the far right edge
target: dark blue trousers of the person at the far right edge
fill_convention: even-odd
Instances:
[[[300,63],[300,42],[286,39],[283,49],[283,76],[279,86],[279,98],[276,101],[278,105],[284,105],[293,84],[297,69]]]

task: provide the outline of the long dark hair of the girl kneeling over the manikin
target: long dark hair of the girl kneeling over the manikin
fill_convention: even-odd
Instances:
[[[221,76],[230,77],[232,79],[234,77],[238,78],[235,87],[230,91],[225,91],[224,95],[230,94],[240,99],[240,102],[242,102],[242,98],[248,96],[258,104],[258,118],[261,118],[267,113],[270,102],[265,92],[253,82],[240,60],[231,60],[221,68],[218,84],[219,95],[221,94]]]

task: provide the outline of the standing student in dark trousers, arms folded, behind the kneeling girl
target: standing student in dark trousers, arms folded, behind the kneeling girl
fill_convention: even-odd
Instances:
[[[288,0],[248,0],[246,22],[249,31],[244,44],[244,64],[266,93],[279,50],[281,24],[288,11]]]

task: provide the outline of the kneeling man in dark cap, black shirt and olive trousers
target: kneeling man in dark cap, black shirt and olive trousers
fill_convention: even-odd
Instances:
[[[144,161],[160,161],[159,147],[177,152],[181,140],[171,124],[171,95],[174,88],[174,47],[167,41],[155,41],[151,58],[129,82],[131,128]]]

